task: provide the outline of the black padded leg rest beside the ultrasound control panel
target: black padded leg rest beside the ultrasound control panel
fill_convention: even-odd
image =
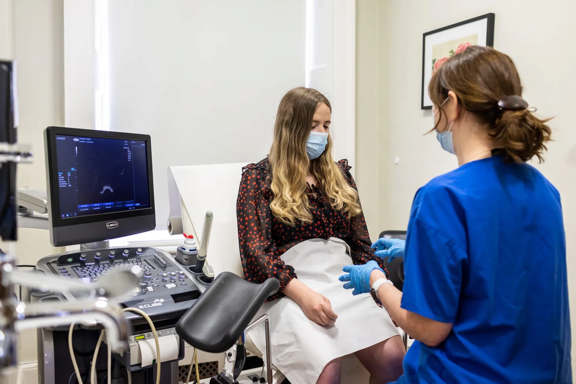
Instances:
[[[255,284],[234,273],[222,272],[180,318],[176,332],[201,351],[225,352],[279,287],[280,283],[273,278]]]

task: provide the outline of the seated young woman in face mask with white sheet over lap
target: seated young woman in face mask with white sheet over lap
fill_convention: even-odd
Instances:
[[[332,160],[330,116],[317,90],[296,88],[282,98],[270,154],[242,169],[242,268],[249,281],[280,281],[260,313],[270,316],[272,363],[293,384],[340,383],[340,360],[350,353],[370,384],[385,383],[400,376],[404,345],[369,294],[347,294],[338,280],[350,259],[381,260],[370,248],[351,167]],[[259,328],[250,336],[263,351]]]

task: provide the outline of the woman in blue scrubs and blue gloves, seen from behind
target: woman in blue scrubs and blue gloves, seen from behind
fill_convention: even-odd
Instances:
[[[397,383],[571,383],[566,243],[560,195],[531,165],[551,130],[522,99],[509,56],[472,46],[429,85],[434,129],[459,167],[420,188],[403,291],[370,261],[344,268],[345,288],[373,290],[416,341]]]

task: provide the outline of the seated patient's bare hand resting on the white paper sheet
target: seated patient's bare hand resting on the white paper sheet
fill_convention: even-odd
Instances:
[[[300,280],[292,279],[283,292],[297,302],[306,316],[316,324],[332,325],[336,322],[338,315],[332,310],[328,298],[313,291]]]

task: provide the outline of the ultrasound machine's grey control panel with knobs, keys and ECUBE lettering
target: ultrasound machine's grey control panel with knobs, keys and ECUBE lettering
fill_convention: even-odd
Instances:
[[[177,312],[188,310],[200,296],[191,272],[170,254],[156,248],[107,248],[55,254],[39,260],[36,268],[62,279],[96,284],[100,276],[134,265],[144,273],[138,287],[123,302],[124,307],[136,307],[150,317],[173,317]],[[126,316],[138,317],[132,313]]]

